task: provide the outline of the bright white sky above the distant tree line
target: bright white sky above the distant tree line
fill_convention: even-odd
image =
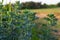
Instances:
[[[20,0],[20,2],[29,2],[29,1],[34,1],[34,2],[42,2],[42,3],[47,3],[47,4],[57,4],[60,2],[60,0]]]

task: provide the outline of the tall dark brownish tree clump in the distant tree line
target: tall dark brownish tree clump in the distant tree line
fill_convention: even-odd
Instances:
[[[38,9],[42,8],[41,2],[25,2],[21,3],[21,9]]]

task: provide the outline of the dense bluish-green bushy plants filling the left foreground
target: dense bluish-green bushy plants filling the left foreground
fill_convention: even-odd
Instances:
[[[10,5],[10,4],[9,4]],[[35,13],[30,11],[12,11],[11,5],[0,12],[0,40],[31,40],[32,28],[35,27]],[[7,10],[7,8],[9,8]]]

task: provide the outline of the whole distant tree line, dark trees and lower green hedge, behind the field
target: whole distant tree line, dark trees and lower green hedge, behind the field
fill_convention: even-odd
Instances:
[[[21,9],[41,9],[41,8],[56,8],[60,7],[60,2],[57,4],[48,5],[46,3],[42,4],[42,2],[23,2],[21,3]]]

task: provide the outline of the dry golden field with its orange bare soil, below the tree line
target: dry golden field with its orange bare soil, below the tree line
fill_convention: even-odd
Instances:
[[[49,8],[49,9],[30,9],[32,12],[36,12],[40,18],[46,17],[49,13],[54,13],[55,16],[60,19],[60,8]]]

